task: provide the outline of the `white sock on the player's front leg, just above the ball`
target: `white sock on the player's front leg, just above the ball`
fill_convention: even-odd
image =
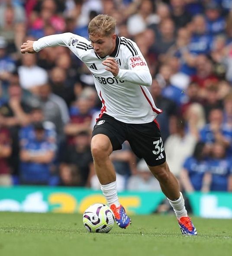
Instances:
[[[120,206],[116,181],[106,185],[101,185],[101,190],[103,195],[106,197],[106,201],[109,206],[111,206],[112,204],[115,204],[116,207]]]

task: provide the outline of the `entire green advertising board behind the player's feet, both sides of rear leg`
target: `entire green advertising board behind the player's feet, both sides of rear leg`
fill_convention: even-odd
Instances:
[[[232,193],[189,193],[195,216],[232,218]],[[161,192],[123,192],[119,200],[129,214],[151,214],[165,198]],[[106,203],[101,191],[85,188],[0,187],[0,211],[83,213],[93,203]]]

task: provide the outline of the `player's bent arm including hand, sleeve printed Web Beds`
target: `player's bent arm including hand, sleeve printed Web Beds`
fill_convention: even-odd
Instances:
[[[120,69],[112,57],[103,60],[102,64],[105,65],[106,70],[110,71],[117,79],[125,80],[136,85],[151,86],[152,77],[145,58],[134,42],[133,47],[137,54],[132,55],[129,50],[126,54],[129,69]]]

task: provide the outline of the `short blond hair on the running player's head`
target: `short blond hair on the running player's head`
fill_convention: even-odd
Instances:
[[[88,32],[90,35],[110,36],[115,33],[116,20],[106,14],[99,14],[90,21]]]

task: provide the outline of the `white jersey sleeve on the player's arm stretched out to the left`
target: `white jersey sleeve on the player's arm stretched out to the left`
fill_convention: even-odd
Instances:
[[[64,46],[68,47],[80,60],[86,54],[86,49],[91,47],[90,42],[81,36],[73,33],[63,33],[42,37],[33,43],[33,48],[36,52],[46,48]]]

